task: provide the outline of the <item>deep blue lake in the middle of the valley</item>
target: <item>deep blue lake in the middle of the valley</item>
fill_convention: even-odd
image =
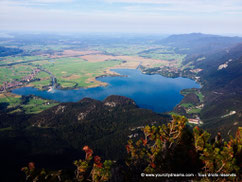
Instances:
[[[77,90],[41,91],[22,87],[12,92],[19,95],[36,95],[59,102],[76,102],[84,97],[103,100],[109,95],[122,95],[133,99],[139,107],[155,112],[172,110],[183,98],[180,91],[185,88],[199,88],[200,85],[187,78],[166,78],[161,75],[145,75],[137,69],[113,70],[127,77],[102,77],[107,87],[80,88]]]

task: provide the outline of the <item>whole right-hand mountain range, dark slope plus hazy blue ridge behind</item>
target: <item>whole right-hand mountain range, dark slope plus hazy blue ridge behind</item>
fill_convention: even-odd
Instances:
[[[181,76],[197,78],[202,85],[204,107],[199,117],[203,127],[211,133],[234,133],[242,123],[242,38],[184,34],[170,36],[163,44],[186,52]],[[198,103],[195,96],[187,94],[181,104]],[[186,115],[182,107],[176,111]]]

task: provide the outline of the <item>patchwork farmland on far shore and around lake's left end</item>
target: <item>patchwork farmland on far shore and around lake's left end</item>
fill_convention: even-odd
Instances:
[[[6,56],[0,59],[0,103],[11,112],[38,113],[52,106],[44,99],[23,98],[11,94],[19,87],[47,90],[106,86],[97,77],[118,75],[111,69],[179,67],[185,55],[172,48],[158,45],[100,45],[88,48],[70,45],[23,45],[27,55]],[[53,80],[55,85],[53,85]],[[6,89],[5,89],[6,87]],[[4,105],[4,104],[5,105]],[[20,107],[21,105],[21,107]],[[13,109],[16,108],[16,109]]]

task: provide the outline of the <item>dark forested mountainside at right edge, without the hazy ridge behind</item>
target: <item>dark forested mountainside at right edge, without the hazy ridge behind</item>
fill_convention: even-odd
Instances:
[[[234,132],[242,122],[242,44],[207,55],[194,65],[203,70],[198,76],[206,94],[201,117],[209,122],[207,128]]]

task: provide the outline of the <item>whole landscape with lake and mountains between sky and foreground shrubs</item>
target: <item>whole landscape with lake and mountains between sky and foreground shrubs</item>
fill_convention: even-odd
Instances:
[[[16,174],[31,160],[71,169],[87,144],[121,160],[128,139],[171,115],[225,139],[241,126],[239,37],[15,36],[0,38],[0,141]]]

